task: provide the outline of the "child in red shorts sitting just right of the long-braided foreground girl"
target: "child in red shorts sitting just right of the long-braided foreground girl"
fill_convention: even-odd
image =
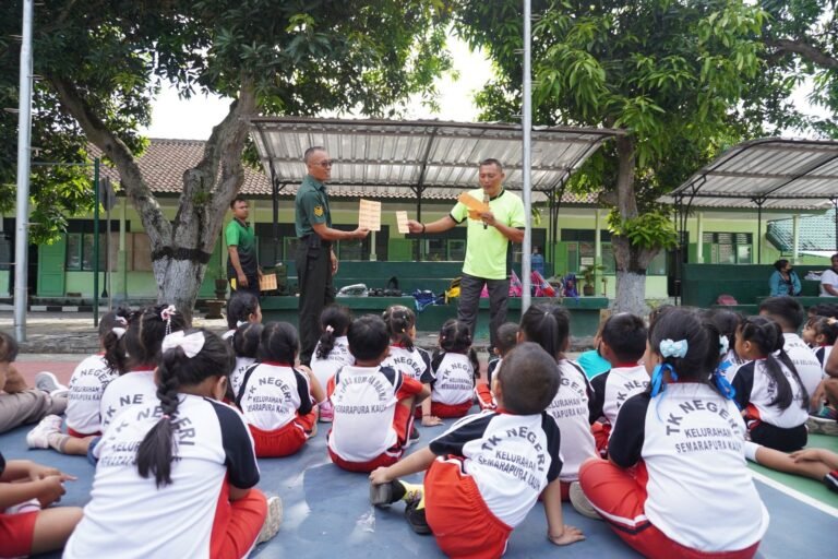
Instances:
[[[236,395],[259,457],[289,456],[316,435],[314,402],[325,394],[308,367],[295,367],[299,345],[289,323],[265,324],[259,365],[247,370]]]

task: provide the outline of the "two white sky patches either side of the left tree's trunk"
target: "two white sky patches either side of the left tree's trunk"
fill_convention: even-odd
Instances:
[[[475,93],[489,80],[491,63],[480,52],[471,52],[466,44],[451,38],[448,49],[458,78],[451,74],[438,80],[439,112],[431,112],[418,102],[408,105],[406,119],[440,119],[470,122],[477,119]],[[164,90],[153,103],[152,126],[144,130],[148,138],[206,140],[215,124],[227,115],[230,102],[220,97],[193,96],[178,98],[173,90]]]

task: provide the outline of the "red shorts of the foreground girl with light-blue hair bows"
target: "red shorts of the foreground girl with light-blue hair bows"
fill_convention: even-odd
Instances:
[[[579,468],[579,484],[590,503],[602,513],[614,533],[644,557],[667,559],[750,559],[759,542],[734,551],[699,551],[670,539],[645,514],[648,473],[641,462],[623,469],[604,460],[591,459]]]

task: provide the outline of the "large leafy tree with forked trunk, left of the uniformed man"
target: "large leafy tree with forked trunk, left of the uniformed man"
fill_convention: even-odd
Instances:
[[[446,17],[433,0],[52,0],[36,14],[35,72],[51,107],[118,169],[151,239],[158,299],[191,313],[243,180],[249,118],[396,114],[448,68]],[[164,82],[232,99],[183,175],[173,221],[136,163],[136,130]]]

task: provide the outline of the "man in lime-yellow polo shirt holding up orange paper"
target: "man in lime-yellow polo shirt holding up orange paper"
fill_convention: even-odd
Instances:
[[[429,224],[410,221],[407,224],[410,233],[415,234],[443,233],[468,219],[457,318],[468,324],[474,335],[480,292],[486,285],[489,290],[489,337],[492,347],[496,345],[498,326],[506,322],[506,299],[510,294],[506,252],[510,242],[524,242],[526,225],[524,203],[503,188],[504,177],[498,159],[484,159],[480,162],[481,188],[468,194],[487,203],[489,211],[469,212],[465,204],[457,202],[451,213],[441,219]]]

